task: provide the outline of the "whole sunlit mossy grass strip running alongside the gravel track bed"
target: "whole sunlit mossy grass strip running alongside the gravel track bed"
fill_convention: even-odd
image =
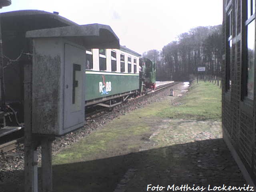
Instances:
[[[140,148],[141,137],[147,138],[161,127],[162,119],[220,120],[221,90],[210,82],[192,83],[189,92],[172,106],[169,96],[144,108],[120,116],[106,124],[101,130],[63,150],[53,159],[53,164],[66,164],[94,160],[108,155],[129,153]],[[125,143],[121,146],[120,143]],[[111,152],[109,149],[115,149]]]

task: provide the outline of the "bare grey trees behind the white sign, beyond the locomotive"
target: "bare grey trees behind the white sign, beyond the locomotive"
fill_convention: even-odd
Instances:
[[[205,67],[208,77],[220,77],[221,48],[222,25],[199,26],[178,35],[162,51],[149,50],[142,56],[156,63],[157,80],[188,80],[197,75],[198,67]]]

